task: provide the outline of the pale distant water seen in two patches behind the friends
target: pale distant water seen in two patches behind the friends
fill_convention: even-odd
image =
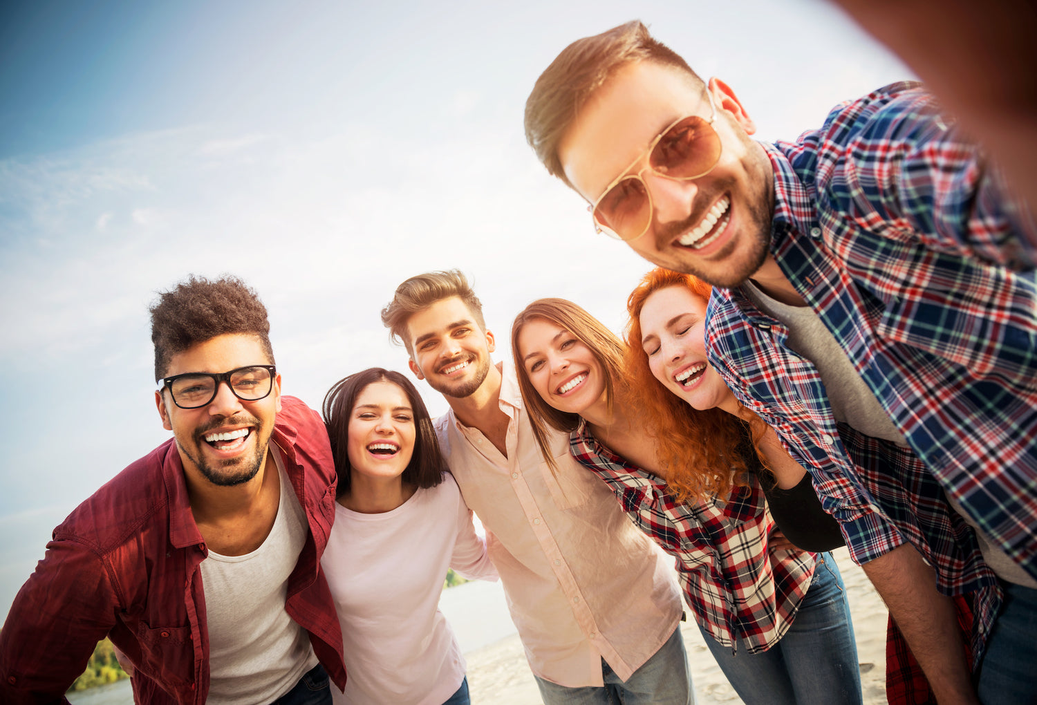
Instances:
[[[463,653],[488,646],[515,632],[508,614],[504,588],[498,583],[474,581],[440,595],[440,610],[457,634]],[[120,680],[68,694],[73,705],[133,705],[130,681]]]

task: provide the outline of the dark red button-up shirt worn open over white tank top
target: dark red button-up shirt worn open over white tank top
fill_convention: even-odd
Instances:
[[[271,436],[306,511],[309,534],[288,577],[285,610],[343,686],[342,633],[320,572],[335,517],[335,466],[324,423],[281,397]],[[207,556],[172,440],[94,492],[54,530],[0,631],[0,702],[64,701],[104,637],[133,661],[134,698],[200,705],[208,632],[198,565]]]

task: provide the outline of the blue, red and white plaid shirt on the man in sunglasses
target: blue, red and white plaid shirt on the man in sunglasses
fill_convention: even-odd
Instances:
[[[813,363],[738,289],[717,288],[709,362],[812,476],[865,563],[909,541],[946,594],[1000,589],[944,492],[1037,574],[1037,297],[1026,215],[917,84],[837,107],[775,172],[770,251],[910,449],[837,424]],[[912,449],[914,452],[912,452]]]

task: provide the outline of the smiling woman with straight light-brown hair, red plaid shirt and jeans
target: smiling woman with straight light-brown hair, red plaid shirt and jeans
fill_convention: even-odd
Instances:
[[[777,531],[762,486],[772,479],[741,423],[719,412],[701,426],[666,428],[676,451],[668,453],[657,416],[634,402],[626,346],[564,299],[527,306],[511,327],[511,347],[534,435],[545,426],[569,431],[572,456],[676,559],[684,600],[741,700],[861,703],[838,568],[830,554]]]

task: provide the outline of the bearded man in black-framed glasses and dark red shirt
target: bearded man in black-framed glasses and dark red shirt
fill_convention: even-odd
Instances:
[[[267,309],[191,278],[151,308],[173,438],[54,530],[0,631],[0,702],[63,701],[97,641],[139,703],[331,703],[342,637],[319,570],[334,519],[324,423],[281,396]]]

